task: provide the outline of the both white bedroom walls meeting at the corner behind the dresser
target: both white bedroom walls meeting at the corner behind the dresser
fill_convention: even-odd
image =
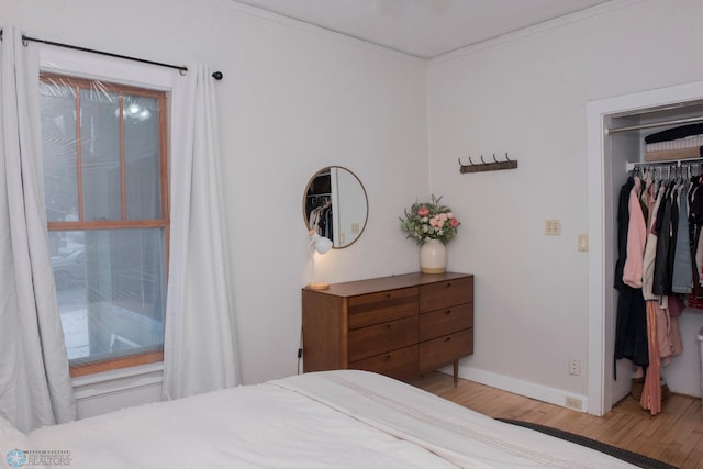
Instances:
[[[295,372],[309,280],[301,199],[317,169],[341,165],[365,183],[369,220],[350,248],[320,258],[320,280],[417,269],[398,215],[443,194],[464,222],[449,268],[476,275],[476,354],[461,375],[557,403],[583,398],[587,103],[703,78],[698,0],[615,0],[428,64],[227,0],[0,0],[0,18],[31,36],[224,72],[245,383]],[[459,174],[457,158],[505,152],[518,169]],[[545,219],[561,220],[562,235],[545,236]]]

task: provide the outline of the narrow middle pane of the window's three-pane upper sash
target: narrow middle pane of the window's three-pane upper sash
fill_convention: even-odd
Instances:
[[[98,87],[80,91],[85,220],[122,219],[119,96]]]

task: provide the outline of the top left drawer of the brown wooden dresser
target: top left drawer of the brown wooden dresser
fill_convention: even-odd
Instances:
[[[349,298],[349,328],[417,314],[417,287]]]

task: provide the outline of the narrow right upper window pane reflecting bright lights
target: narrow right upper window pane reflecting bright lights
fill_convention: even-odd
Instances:
[[[125,96],[123,114],[127,219],[160,219],[158,101]]]

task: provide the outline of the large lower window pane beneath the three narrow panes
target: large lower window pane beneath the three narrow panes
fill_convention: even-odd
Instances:
[[[71,365],[160,349],[164,231],[52,232],[52,265]]]

